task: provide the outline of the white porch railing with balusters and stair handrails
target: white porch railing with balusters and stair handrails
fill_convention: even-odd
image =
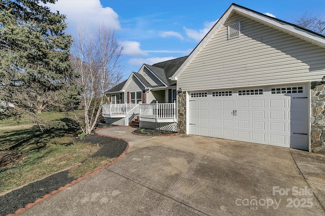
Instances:
[[[125,118],[124,125],[137,116],[140,121],[176,122],[176,103],[103,104],[103,117]]]

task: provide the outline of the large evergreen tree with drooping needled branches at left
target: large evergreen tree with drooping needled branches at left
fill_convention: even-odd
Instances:
[[[79,102],[77,73],[69,62],[72,36],[64,32],[66,17],[44,5],[55,2],[0,3],[0,102],[8,104],[0,119],[36,117],[44,109]]]

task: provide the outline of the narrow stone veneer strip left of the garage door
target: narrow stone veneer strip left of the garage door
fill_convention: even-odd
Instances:
[[[186,134],[186,92],[177,95],[177,131],[179,134]]]

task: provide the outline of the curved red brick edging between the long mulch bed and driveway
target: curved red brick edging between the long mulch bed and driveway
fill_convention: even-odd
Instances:
[[[103,129],[105,129],[105,128],[103,128]],[[58,188],[57,190],[52,191],[50,194],[45,194],[45,195],[43,196],[43,198],[39,198],[39,199],[35,200],[34,202],[28,203],[24,208],[18,208],[18,209],[15,211],[15,213],[13,213],[13,214],[7,214],[7,216],[15,216],[15,215],[18,215],[18,214],[24,212],[25,210],[27,210],[27,209],[31,208],[32,206],[36,205],[37,203],[40,203],[40,202],[44,201],[45,199],[50,198],[52,195],[57,194],[58,192],[63,191],[63,190],[65,190],[65,189],[71,187],[72,185],[77,184],[77,183],[80,182],[81,180],[84,180],[84,179],[86,179],[86,178],[88,178],[88,177],[90,177],[90,176],[95,175],[96,173],[102,171],[103,169],[107,168],[108,166],[110,166],[110,165],[112,165],[113,163],[115,163],[116,161],[118,161],[121,157],[123,157],[123,156],[126,154],[128,148],[129,148],[129,144],[128,144],[128,142],[127,142],[126,140],[123,140],[123,139],[118,138],[118,137],[112,137],[112,136],[108,136],[108,135],[102,135],[102,134],[97,133],[96,130],[94,131],[94,133],[95,133],[96,135],[101,136],[101,137],[109,137],[109,138],[114,138],[114,139],[122,140],[122,141],[126,142],[127,145],[126,145],[125,150],[122,152],[122,154],[120,154],[120,156],[118,156],[115,160],[113,160],[112,162],[110,162],[110,163],[107,164],[106,166],[103,166],[103,167],[101,167],[101,168],[99,168],[99,169],[96,169],[95,171],[91,172],[90,174],[87,174],[87,175],[85,175],[85,176],[83,176],[83,177],[78,178],[77,180],[72,181],[71,183],[68,183],[68,184],[66,184],[66,185],[63,186],[63,187],[60,187],[60,188]]]

